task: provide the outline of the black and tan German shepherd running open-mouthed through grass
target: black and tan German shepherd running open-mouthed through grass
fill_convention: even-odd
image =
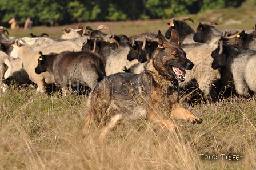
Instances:
[[[175,30],[170,41],[158,31],[159,46],[141,74],[120,72],[107,76],[89,95],[87,113],[82,135],[86,136],[91,120],[98,121],[104,127],[102,140],[121,119],[150,119],[162,127],[173,131],[176,119],[191,123],[202,123],[179,104],[178,81],[185,80],[185,70],[194,64],[186,58],[179,46],[179,37]]]

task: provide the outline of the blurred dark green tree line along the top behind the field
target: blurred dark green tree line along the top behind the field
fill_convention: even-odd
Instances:
[[[86,21],[164,19],[197,14],[207,9],[239,7],[245,0],[1,0],[0,24],[15,17],[22,26],[27,17],[33,25],[64,25]]]

